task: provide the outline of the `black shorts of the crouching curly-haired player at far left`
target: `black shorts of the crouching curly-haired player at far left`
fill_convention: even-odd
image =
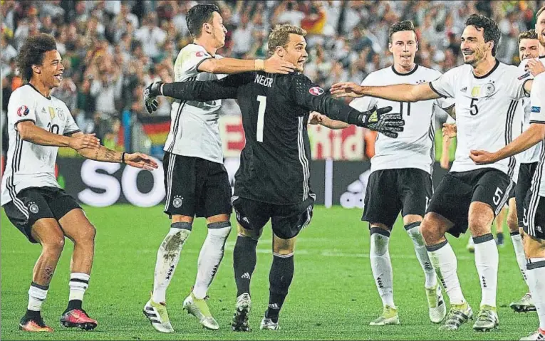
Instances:
[[[69,211],[81,209],[72,196],[58,187],[23,189],[16,195],[16,199],[3,207],[11,224],[14,224],[31,243],[38,243],[31,234],[32,226],[38,219],[54,218],[58,221]]]

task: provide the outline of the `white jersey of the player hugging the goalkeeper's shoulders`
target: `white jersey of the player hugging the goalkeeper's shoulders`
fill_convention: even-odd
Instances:
[[[196,44],[182,48],[174,64],[175,82],[192,80],[217,80],[226,75],[199,72],[200,63],[214,57]],[[219,107],[222,100],[197,102],[174,100],[170,111],[170,132],[165,142],[165,151],[187,157],[199,157],[223,163],[222,140],[219,138]]]

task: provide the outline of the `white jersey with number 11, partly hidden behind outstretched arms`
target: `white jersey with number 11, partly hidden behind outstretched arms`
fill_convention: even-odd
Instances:
[[[437,70],[416,65],[410,73],[398,73],[393,66],[370,73],[362,85],[421,84],[439,78]],[[403,132],[397,138],[377,135],[375,156],[371,159],[371,172],[380,169],[417,168],[432,174],[435,161],[435,109],[448,109],[454,105],[451,99],[420,100],[415,103],[394,102],[381,98],[356,98],[350,103],[360,111],[377,107],[393,107],[405,120]]]

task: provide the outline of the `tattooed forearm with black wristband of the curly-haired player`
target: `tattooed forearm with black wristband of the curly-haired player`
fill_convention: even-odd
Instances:
[[[72,137],[78,137],[79,134],[83,135],[83,132],[76,132]],[[153,170],[158,167],[157,162],[146,154],[117,152],[102,145],[95,148],[77,149],[77,152],[86,159],[100,162],[125,163],[129,166],[147,170]]]

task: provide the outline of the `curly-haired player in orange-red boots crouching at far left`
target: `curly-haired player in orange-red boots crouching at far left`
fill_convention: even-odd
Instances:
[[[2,206],[9,221],[31,243],[41,244],[28,290],[28,308],[19,328],[53,332],[41,318],[49,283],[61,256],[65,237],[74,243],[70,264],[70,296],[61,325],[93,330],[97,321],[82,308],[89,285],[95,248],[95,227],[81,206],[66,194],[55,178],[58,147],[71,147],[88,159],[155,169],[145,154],[128,154],[100,146],[94,134],[78,129],[63,101],[50,95],[63,78],[64,66],[52,36],[28,38],[18,57],[21,75],[28,81],[11,94],[8,103],[9,149],[2,178]]]

